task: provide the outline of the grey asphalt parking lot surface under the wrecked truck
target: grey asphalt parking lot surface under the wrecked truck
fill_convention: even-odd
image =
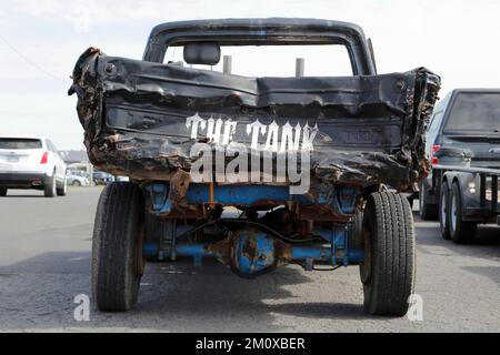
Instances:
[[[126,314],[91,307],[91,234],[99,187],[68,196],[10,192],[0,199],[0,331],[41,332],[500,332],[500,229],[473,245],[443,241],[416,212],[416,293],[423,321],[367,315],[357,267],[306,272],[290,265],[242,280],[217,262],[148,264],[139,302]],[[417,203],[416,203],[417,205]]]

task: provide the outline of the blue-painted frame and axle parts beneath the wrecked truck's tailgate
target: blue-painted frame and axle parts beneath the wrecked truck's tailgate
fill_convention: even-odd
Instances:
[[[352,214],[356,207],[356,196],[359,194],[356,189],[344,187],[348,190],[351,199],[346,203],[343,200],[340,202],[338,199],[333,200],[332,207],[336,211],[340,211],[346,214]],[[147,187],[147,191],[152,196],[152,210],[153,213],[161,215],[171,212],[172,202],[169,200],[169,185],[164,183],[154,183]],[[300,205],[310,205],[314,201],[308,200],[304,195],[290,195],[288,186],[269,186],[269,185],[217,185],[213,186],[213,196],[210,196],[210,185],[208,184],[192,184],[187,193],[187,200],[189,204],[222,204],[222,205],[254,205],[263,199],[270,199],[277,204],[282,204],[290,201],[296,201]],[[214,201],[211,201],[214,200]],[[326,203],[326,197],[320,197],[319,203]],[[216,257],[216,253],[206,244],[179,244],[178,239],[186,239],[192,226],[183,225],[180,231],[177,229],[171,235],[170,243],[166,245],[160,243],[146,243],[143,245],[143,253],[149,257],[157,257],[158,260],[176,260],[177,256],[192,256],[194,265],[200,266],[202,257]],[[314,262],[326,263],[333,266],[350,264],[358,265],[363,261],[363,250],[353,248],[349,245],[350,233],[353,233],[348,226],[340,226],[332,230],[314,230],[313,234],[321,237],[324,242],[329,243],[328,247],[311,247],[311,246],[292,246],[289,251],[287,261],[300,261],[304,262],[307,270],[312,270]],[[180,236],[180,237],[179,237]],[[183,237],[182,237],[183,236]],[[259,255],[273,255],[274,245],[269,243],[269,237],[266,233],[257,233],[254,236]],[[244,242],[240,243],[243,245]],[[166,255],[167,254],[167,255]],[[229,256],[229,255],[228,255]],[[261,263],[256,267],[249,267],[252,261],[246,257],[244,248],[240,247],[236,250],[234,260],[238,265],[241,265],[241,274],[246,276],[253,276],[264,272],[269,264]],[[266,258],[266,257],[264,257]],[[259,260],[259,256],[254,257]],[[243,266],[247,265],[247,266]]]

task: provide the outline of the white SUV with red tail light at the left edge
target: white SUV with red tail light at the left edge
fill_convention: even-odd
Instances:
[[[43,190],[46,197],[66,195],[66,164],[49,139],[0,136],[0,196],[8,189]]]

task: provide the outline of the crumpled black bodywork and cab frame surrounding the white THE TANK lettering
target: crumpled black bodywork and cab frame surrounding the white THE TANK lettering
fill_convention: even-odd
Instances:
[[[243,78],[162,64],[168,45],[209,38],[221,43],[343,43],[354,75]],[[428,172],[423,130],[439,77],[420,68],[377,75],[362,31],[311,20],[177,22],[151,33],[144,60],[89,49],[78,61],[70,92],[79,97],[92,163],[139,181],[170,181],[189,171],[194,141],[187,118],[238,122],[234,140],[250,148],[252,122],[318,129],[311,151],[317,181],[407,189]],[[213,144],[216,145],[216,144]],[[216,148],[214,148],[216,149]],[[277,152],[279,154],[279,152]]]

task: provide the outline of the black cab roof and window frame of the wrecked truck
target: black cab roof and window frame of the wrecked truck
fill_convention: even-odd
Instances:
[[[376,74],[363,30],[353,23],[297,18],[222,19],[168,22],[154,27],[143,60],[162,62],[167,48],[193,41],[221,45],[344,44],[353,73]]]

